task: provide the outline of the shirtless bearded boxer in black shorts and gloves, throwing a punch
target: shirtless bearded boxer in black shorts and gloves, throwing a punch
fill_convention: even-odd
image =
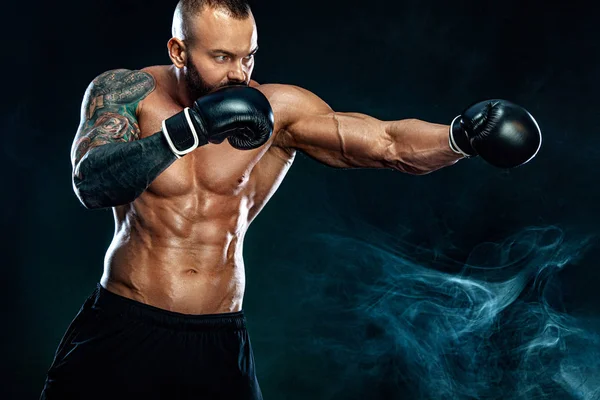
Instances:
[[[297,150],[333,167],[426,174],[480,155],[513,167],[541,135],[502,100],[450,126],[334,112],[250,79],[244,0],[181,0],[172,65],[88,87],[71,158],[87,208],[112,207],[104,274],[64,335],[42,399],[261,399],[242,311],[244,235]]]

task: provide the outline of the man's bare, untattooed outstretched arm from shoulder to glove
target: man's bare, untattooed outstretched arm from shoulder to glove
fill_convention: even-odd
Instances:
[[[422,175],[462,158],[449,146],[447,125],[334,112],[305,89],[278,86],[272,100],[275,117],[282,120],[276,144],[301,150],[326,165],[392,168]]]

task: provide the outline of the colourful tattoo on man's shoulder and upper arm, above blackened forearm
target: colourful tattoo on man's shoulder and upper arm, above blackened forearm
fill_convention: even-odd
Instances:
[[[137,106],[155,85],[150,74],[126,69],[108,71],[94,79],[82,105],[85,121],[75,137],[73,165],[93,147],[138,140]]]

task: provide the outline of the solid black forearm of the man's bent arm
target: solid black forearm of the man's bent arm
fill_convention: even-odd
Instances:
[[[135,200],[177,157],[160,133],[127,143],[90,149],[77,163],[73,187],[86,208]]]

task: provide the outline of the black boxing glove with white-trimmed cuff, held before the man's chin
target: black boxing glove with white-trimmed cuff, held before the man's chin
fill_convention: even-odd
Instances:
[[[239,150],[262,146],[273,133],[274,117],[269,101],[249,86],[226,86],[202,96],[191,108],[162,122],[171,151],[183,155],[208,143],[227,138]]]

